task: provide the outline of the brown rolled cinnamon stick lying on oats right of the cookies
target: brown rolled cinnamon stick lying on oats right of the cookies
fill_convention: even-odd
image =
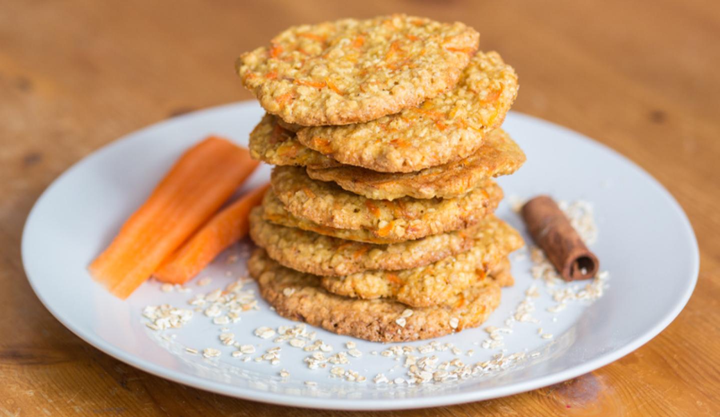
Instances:
[[[523,206],[523,219],[536,244],[566,281],[593,278],[600,262],[549,196],[538,196]]]

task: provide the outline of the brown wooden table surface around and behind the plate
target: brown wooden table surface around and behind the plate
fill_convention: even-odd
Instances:
[[[233,73],[238,53],[290,24],[394,11],[472,24],[482,49],[520,74],[514,109],[598,139],[660,180],[696,229],[701,272],[678,319],[612,365],[531,393],[387,414],[719,415],[716,1],[242,3],[0,1],[0,415],[352,414],[226,398],[117,362],[42,307],[19,243],[32,203],[73,162],[158,120],[251,98]]]

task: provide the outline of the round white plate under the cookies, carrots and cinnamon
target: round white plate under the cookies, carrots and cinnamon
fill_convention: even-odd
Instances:
[[[261,117],[257,104],[241,103],[199,111],[132,133],[78,162],[55,180],[35,204],[25,225],[22,257],[28,280],[51,313],[89,344],[141,370],[169,380],[239,398],[315,408],[419,408],[495,398],[532,390],[590,372],[632,352],[670,324],[685,306],[698,276],[698,247],[693,229],[678,203],[643,170],[597,142],[554,124],[521,114],[509,114],[505,129],[521,145],[528,162],[515,175],[501,178],[506,196],[528,198],[549,193],[557,199],[585,199],[595,207],[599,239],[593,250],[608,270],[605,295],[594,303],[575,302],[552,314],[547,288],[529,273],[529,260],[513,261],[516,285],[503,290],[503,303],[488,325],[502,326],[523,292],[538,284],[542,293],[534,316],[541,324],[518,323],[506,334],[506,354],[540,352],[497,375],[471,377],[450,384],[374,384],[377,372],[400,364],[388,374],[405,375],[402,362],[374,356],[387,345],[357,341],[364,352],[351,358],[348,369],[368,377],[363,383],[330,378],[325,370],[309,370],[302,349],[283,344],[282,363],[241,362],[233,349],[217,339],[220,327],[196,313],[182,328],[166,331],[163,339],[144,324],[141,311],[148,304],[186,306],[192,294],[163,293],[158,283],[145,283],[127,301],[109,295],[94,283],[86,265],[101,251],[122,221],[148,195],[153,185],[189,145],[207,134],[221,134],[246,144],[248,133]],[[248,186],[267,180],[269,167],[253,175]],[[504,202],[498,214],[524,230],[520,219]],[[529,240],[528,240],[529,242]],[[229,249],[246,253],[248,244]],[[213,277],[205,287],[189,285],[193,293],[220,288],[244,273],[244,262],[228,267],[223,255],[204,272]],[[254,283],[250,284],[251,286]],[[563,284],[564,285],[564,284]],[[582,286],[584,283],[571,284]],[[229,327],[238,341],[258,345],[272,340],[253,336],[258,326],[294,324],[277,316],[261,301],[259,311],[243,315]],[[557,316],[557,321],[552,321]],[[538,327],[554,334],[541,339]],[[345,350],[349,339],[318,330],[318,337]],[[499,349],[483,349],[482,329],[467,329],[438,339],[452,342],[463,352],[474,349],[464,362],[490,359]],[[418,346],[426,342],[416,342]],[[184,347],[222,350],[217,359],[203,359]],[[441,359],[451,352],[437,353]],[[253,357],[256,355],[253,355]],[[286,382],[278,377],[290,372]],[[315,387],[305,381],[317,382]]]

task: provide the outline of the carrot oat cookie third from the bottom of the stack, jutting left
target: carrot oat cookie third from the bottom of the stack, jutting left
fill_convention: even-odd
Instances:
[[[315,275],[349,275],[366,270],[406,270],[465,252],[477,229],[435,234],[395,244],[370,244],[323,236],[263,219],[262,207],[250,214],[250,236],[281,265]]]

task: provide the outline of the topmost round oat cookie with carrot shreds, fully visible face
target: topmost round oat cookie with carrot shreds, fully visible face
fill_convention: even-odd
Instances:
[[[480,35],[405,14],[301,25],[236,63],[243,84],[285,122],[374,120],[452,88]]]

